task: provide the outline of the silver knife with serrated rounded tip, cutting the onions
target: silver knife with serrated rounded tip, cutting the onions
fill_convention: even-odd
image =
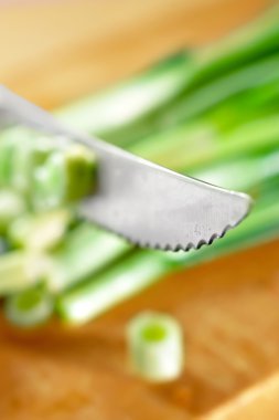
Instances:
[[[154,165],[84,133],[0,87],[0,124],[23,124],[94,150],[98,188],[79,203],[81,214],[140,245],[198,249],[222,238],[249,212],[249,196]]]

